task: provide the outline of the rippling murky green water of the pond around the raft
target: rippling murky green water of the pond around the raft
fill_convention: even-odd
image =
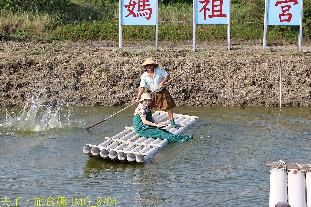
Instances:
[[[132,126],[135,106],[84,129],[124,107],[63,107],[60,127],[36,132],[3,126],[21,108],[2,108],[0,206],[5,198],[11,206],[104,206],[105,197],[110,206],[268,206],[266,162],[311,163],[307,107],[176,107],[199,117],[182,132],[194,139],[169,143],[148,163],[84,154],[86,143]]]

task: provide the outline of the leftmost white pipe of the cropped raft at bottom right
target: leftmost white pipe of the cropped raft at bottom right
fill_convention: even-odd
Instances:
[[[278,202],[287,203],[287,171],[271,168],[269,207],[275,207]]]

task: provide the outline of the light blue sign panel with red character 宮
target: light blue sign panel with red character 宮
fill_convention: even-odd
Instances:
[[[301,0],[269,0],[267,25],[300,25]]]

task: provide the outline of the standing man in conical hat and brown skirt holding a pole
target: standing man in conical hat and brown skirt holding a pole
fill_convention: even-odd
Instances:
[[[159,90],[151,94],[151,98],[154,99],[154,101],[151,102],[150,108],[154,111],[167,111],[171,120],[171,126],[177,127],[174,122],[173,114],[173,108],[176,104],[165,87],[165,82],[169,80],[170,75],[159,68],[159,64],[150,58],[147,58],[140,68],[146,69],[147,71],[144,72],[140,78],[140,88],[135,102],[138,103],[146,87],[148,87],[149,93],[159,88]]]

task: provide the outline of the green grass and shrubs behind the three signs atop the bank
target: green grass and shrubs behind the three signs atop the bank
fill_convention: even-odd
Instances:
[[[159,1],[159,41],[192,40],[192,0]],[[190,4],[189,4],[190,3]],[[264,0],[231,0],[231,39],[263,38]],[[118,41],[118,0],[0,0],[0,34],[23,39]],[[298,26],[267,28],[267,41],[298,42]],[[123,25],[127,41],[152,41],[154,26]],[[303,41],[311,38],[311,0],[304,1]],[[197,25],[198,41],[224,41],[227,25]]]

